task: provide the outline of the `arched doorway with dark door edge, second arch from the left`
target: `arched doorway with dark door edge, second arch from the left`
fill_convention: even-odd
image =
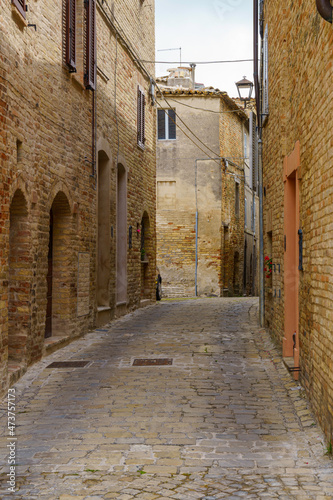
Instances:
[[[45,337],[65,336],[71,319],[73,230],[67,195],[58,191],[49,211]]]

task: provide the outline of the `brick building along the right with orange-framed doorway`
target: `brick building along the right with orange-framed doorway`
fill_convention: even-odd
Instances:
[[[332,440],[333,29],[317,6],[262,3],[265,322]]]

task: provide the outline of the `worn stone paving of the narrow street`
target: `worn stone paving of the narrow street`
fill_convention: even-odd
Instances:
[[[2,405],[1,499],[333,499],[323,435],[256,312],[162,301],[31,367],[14,386],[15,493]]]

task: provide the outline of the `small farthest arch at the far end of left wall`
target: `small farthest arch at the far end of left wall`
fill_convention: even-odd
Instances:
[[[141,299],[151,298],[151,262],[153,261],[153,238],[151,221],[145,210],[141,218]]]

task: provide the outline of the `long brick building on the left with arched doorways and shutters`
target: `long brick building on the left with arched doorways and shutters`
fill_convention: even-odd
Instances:
[[[145,7],[0,0],[1,393],[44,354],[155,300]]]

